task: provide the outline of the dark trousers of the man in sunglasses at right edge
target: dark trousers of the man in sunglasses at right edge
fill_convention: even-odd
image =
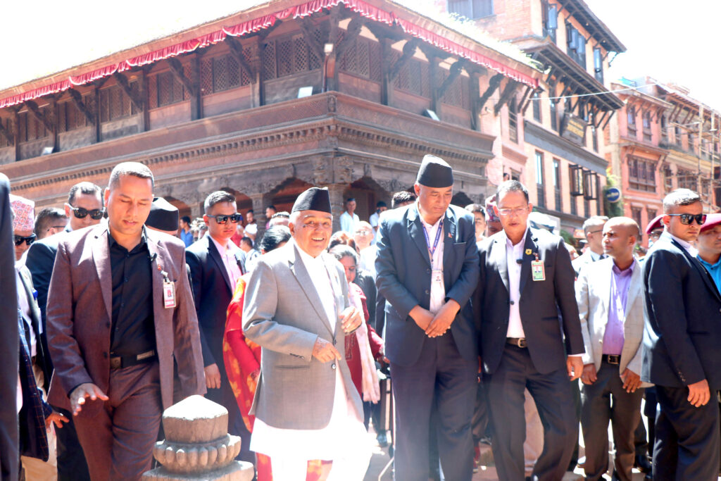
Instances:
[[[717,480],[720,456],[717,392],[702,407],[689,403],[687,387],[656,386],[658,412],[653,479]]]

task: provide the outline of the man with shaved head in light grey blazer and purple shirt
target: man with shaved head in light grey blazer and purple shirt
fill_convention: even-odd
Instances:
[[[587,480],[609,466],[609,420],[614,432],[614,475],[630,481],[634,428],[641,418],[641,341],[645,321],[642,268],[633,257],[640,230],[628,217],[603,226],[603,252],[610,258],[581,270],[576,301],[583,333],[581,427]],[[613,408],[611,408],[613,404]]]

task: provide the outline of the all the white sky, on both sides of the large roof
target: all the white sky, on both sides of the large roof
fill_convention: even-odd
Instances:
[[[430,0],[418,0],[430,1]],[[503,0],[497,0],[503,1]],[[607,79],[652,76],[721,110],[717,0],[585,0],[627,47]],[[263,0],[7,1],[0,89],[239,12]]]

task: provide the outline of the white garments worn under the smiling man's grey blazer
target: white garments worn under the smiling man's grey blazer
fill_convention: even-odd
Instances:
[[[311,277],[313,287],[321,299],[323,311],[335,333],[335,324],[338,318],[335,302],[335,288],[340,288],[340,279],[335,270],[328,270],[323,256],[311,257],[291,241],[293,248],[300,255],[301,261]],[[332,280],[331,280],[332,279]],[[340,306],[342,307],[342,306]],[[337,362],[337,361],[329,361]],[[355,389],[352,386],[351,389]],[[252,451],[270,456],[273,461],[273,477],[283,469],[283,464],[298,467],[298,476],[288,476],[287,479],[302,479],[300,472],[305,473],[305,462],[309,459],[335,460],[345,454],[368,450],[366,428],[363,420],[355,415],[353,403],[345,395],[345,383],[340,369],[335,370],[335,394],[333,397],[333,410],[330,421],[321,429],[283,429],[275,428],[255,418],[253,433],[250,438]],[[276,460],[278,464],[276,464]],[[283,461],[283,464],[280,462]],[[290,461],[290,462],[288,462]],[[281,478],[283,476],[280,476]],[[363,474],[361,473],[362,479]]]

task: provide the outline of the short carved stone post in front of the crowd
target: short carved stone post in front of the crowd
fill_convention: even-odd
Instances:
[[[143,473],[146,481],[250,481],[255,469],[236,461],[240,438],[228,434],[228,410],[203,396],[190,396],[163,412],[165,440],[153,455],[162,467]]]

